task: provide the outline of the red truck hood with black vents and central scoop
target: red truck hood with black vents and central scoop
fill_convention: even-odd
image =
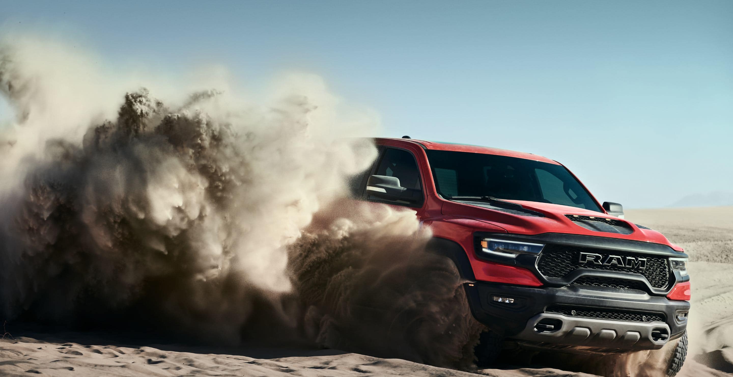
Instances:
[[[670,246],[677,251],[682,248],[671,244],[655,230],[639,227],[633,222],[608,214],[542,202],[505,200],[521,205],[522,208],[497,208],[488,202],[470,200],[448,200],[443,202],[441,212],[447,216],[458,216],[487,222],[507,230],[507,233],[537,235],[542,233],[565,233],[593,235],[596,237],[621,238],[625,240],[652,242]]]

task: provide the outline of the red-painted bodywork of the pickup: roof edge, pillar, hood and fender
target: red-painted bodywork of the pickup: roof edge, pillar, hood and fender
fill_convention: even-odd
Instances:
[[[633,233],[629,235],[600,233],[587,230],[586,228],[571,222],[570,219],[567,219],[564,216],[565,214],[577,214],[617,219],[616,217],[609,216],[606,213],[542,202],[511,201],[521,204],[524,208],[541,212],[545,215],[545,217],[518,216],[476,205],[444,200],[437,194],[435,189],[435,183],[432,178],[432,171],[430,169],[430,163],[427,160],[425,149],[505,155],[515,158],[527,158],[550,164],[559,164],[549,158],[533,155],[531,153],[514,152],[512,150],[477,147],[473,145],[425,142],[414,139],[379,138],[376,139],[376,143],[377,145],[399,147],[409,150],[415,155],[421,177],[423,177],[422,185],[425,195],[422,207],[415,208],[417,216],[425,225],[430,226],[435,237],[446,238],[463,246],[477,279],[479,279],[479,277],[488,279],[487,274],[490,274],[492,268],[496,267],[492,267],[489,262],[479,260],[476,257],[476,252],[474,251],[475,232],[513,233],[521,235],[538,235],[542,233],[592,235],[595,237],[621,238],[625,240],[663,244],[671,246],[677,251],[682,251],[682,248],[671,244],[661,233],[656,232],[655,230],[640,229],[632,222],[627,222],[627,224],[629,224],[633,229]],[[619,220],[625,221],[623,219]],[[532,274],[530,271],[526,271]],[[523,273],[520,273],[517,276],[522,274]]]

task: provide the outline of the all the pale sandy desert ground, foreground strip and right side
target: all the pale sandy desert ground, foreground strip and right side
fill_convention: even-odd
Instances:
[[[733,373],[733,207],[627,211],[690,254],[690,353],[679,376]],[[471,376],[401,359],[312,348],[212,348],[145,342],[119,334],[6,328],[4,376]],[[478,370],[485,376],[590,376],[533,365]]]

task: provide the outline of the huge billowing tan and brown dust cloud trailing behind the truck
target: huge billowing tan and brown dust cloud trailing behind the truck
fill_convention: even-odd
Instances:
[[[452,265],[424,253],[430,230],[347,199],[376,156],[351,136],[377,127],[323,81],[163,101],[91,61],[0,43],[16,116],[0,128],[1,318],[471,360],[479,329]]]

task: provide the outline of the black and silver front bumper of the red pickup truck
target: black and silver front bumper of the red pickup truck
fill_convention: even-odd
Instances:
[[[555,345],[658,349],[669,340],[682,336],[690,310],[687,301],[672,301],[663,296],[621,288],[582,285],[529,288],[471,282],[465,284],[465,290],[474,317],[493,332],[510,339]],[[514,299],[514,302],[494,301],[494,297]],[[608,317],[603,315],[608,312],[629,313],[624,318],[644,320],[592,318],[580,314],[582,310],[578,310],[578,315],[572,315],[575,311],[570,310],[559,314],[548,312],[550,307],[585,308],[602,313],[600,317]],[[547,319],[559,322],[550,321],[556,325],[553,331],[538,331],[538,323]]]

